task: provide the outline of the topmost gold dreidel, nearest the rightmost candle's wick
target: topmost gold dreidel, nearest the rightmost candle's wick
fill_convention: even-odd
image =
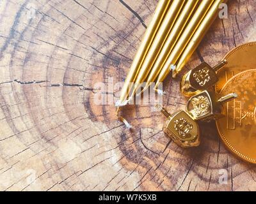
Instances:
[[[186,73],[180,82],[180,91],[184,96],[193,96],[198,91],[209,89],[218,82],[216,71],[223,68],[227,60],[223,59],[219,64],[211,68],[206,62],[202,62],[195,69]]]

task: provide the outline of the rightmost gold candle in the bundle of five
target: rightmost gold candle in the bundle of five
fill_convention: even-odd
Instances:
[[[226,0],[217,0],[212,4],[211,9],[205,16],[202,23],[199,25],[198,29],[196,30],[195,34],[189,41],[186,49],[183,51],[179,61],[177,62],[176,68],[173,70],[173,77],[176,77],[177,73],[184,67],[186,62],[188,62],[189,58],[195,52],[196,47],[198,47],[202,38],[204,38],[205,33],[208,31],[209,27],[211,26],[212,22],[218,15],[218,8],[221,3],[225,3]]]

